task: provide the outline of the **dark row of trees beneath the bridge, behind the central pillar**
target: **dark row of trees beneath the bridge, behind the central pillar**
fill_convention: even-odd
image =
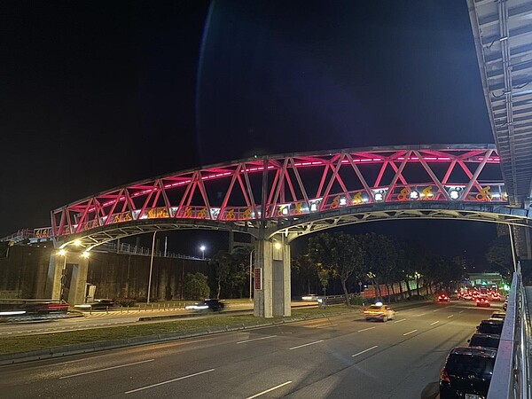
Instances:
[[[507,253],[494,256],[501,248],[500,239],[487,255],[491,269],[507,260]],[[218,251],[208,262],[207,276],[196,273],[185,278],[184,291],[189,299],[245,298],[249,295],[250,256],[252,248],[237,246],[231,252]],[[497,259],[494,259],[497,258]],[[429,289],[449,292],[464,278],[464,268],[457,260],[433,254],[417,242],[389,238],[375,233],[351,235],[345,232],[319,233],[309,238],[307,252],[292,259],[292,293],[343,293],[346,303],[352,293],[363,286],[374,287],[378,297],[406,286],[411,296],[410,282]],[[506,266],[507,262],[505,262]],[[252,271],[251,271],[252,272]]]

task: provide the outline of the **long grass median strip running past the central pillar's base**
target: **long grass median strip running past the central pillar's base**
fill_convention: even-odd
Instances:
[[[347,308],[343,305],[333,306],[327,309],[293,309],[291,317],[273,317],[268,319],[254,317],[252,315],[231,315],[230,313],[227,313],[223,316],[214,315],[213,317],[178,319],[160,323],[143,324],[142,322],[139,322],[137,325],[121,325],[82,331],[8,337],[0,340],[0,355],[30,352],[45,348],[59,348],[87,342],[124,340],[150,335],[168,334],[172,332],[192,332],[206,330],[209,327],[251,327],[265,322],[276,323],[293,318],[328,317],[338,315],[339,313],[358,310],[358,307]]]

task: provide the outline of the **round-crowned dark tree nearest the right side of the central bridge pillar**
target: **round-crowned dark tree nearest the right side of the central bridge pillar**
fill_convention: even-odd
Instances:
[[[349,306],[348,279],[360,270],[363,250],[353,236],[340,232],[320,233],[309,239],[309,257],[333,278],[340,278]],[[319,276],[318,272],[318,276]],[[321,277],[320,277],[321,280]]]

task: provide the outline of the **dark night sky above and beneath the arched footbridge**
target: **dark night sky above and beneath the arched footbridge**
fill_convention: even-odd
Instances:
[[[493,142],[465,0],[4,0],[0,60],[0,236],[254,154]],[[495,237],[364,226],[455,252]]]

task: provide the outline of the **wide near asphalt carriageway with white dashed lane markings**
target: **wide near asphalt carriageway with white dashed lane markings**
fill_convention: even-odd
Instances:
[[[491,309],[425,303],[0,368],[9,398],[419,398]]]

